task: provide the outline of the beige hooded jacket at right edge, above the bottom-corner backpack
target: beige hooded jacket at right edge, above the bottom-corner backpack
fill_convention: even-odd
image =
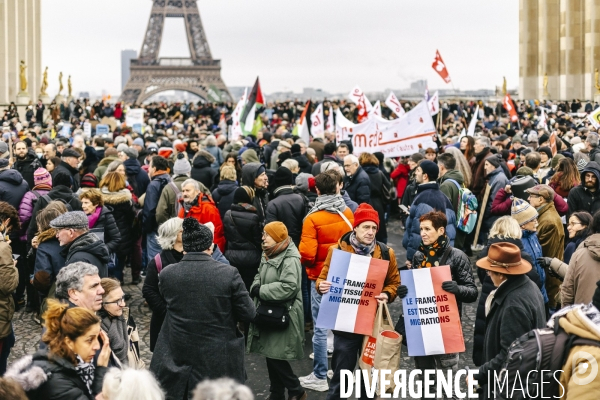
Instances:
[[[562,305],[587,304],[592,301],[596,282],[600,280],[600,233],[588,236],[573,253],[561,286]]]

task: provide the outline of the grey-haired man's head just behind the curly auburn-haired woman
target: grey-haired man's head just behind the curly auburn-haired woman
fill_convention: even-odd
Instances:
[[[73,307],[99,311],[104,294],[100,279],[98,268],[92,264],[78,261],[67,265],[56,276],[56,298]]]

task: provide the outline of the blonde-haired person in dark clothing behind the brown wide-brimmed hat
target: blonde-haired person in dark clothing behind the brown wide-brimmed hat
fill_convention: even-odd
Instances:
[[[490,246],[494,243],[508,242],[516,245],[521,250],[521,257],[534,265],[532,256],[524,251],[523,242],[521,241],[523,234],[519,223],[512,217],[505,215],[500,217],[494,222],[494,225],[490,228],[490,234],[487,245],[479,253],[478,259],[486,258]],[[481,297],[479,297],[479,304],[477,306],[477,313],[475,317],[475,329],[474,329],[474,340],[473,340],[473,362],[476,366],[483,364],[483,346],[486,329],[486,316],[485,316],[485,301],[495,286],[491,278],[486,275],[484,269],[477,268],[477,276],[481,282]],[[538,288],[542,288],[542,281],[535,268],[527,273],[529,279],[531,279]]]

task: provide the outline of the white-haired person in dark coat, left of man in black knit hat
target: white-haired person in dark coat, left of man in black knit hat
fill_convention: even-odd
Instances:
[[[163,268],[183,258],[183,219],[171,218],[158,228],[156,240],[162,251],[148,262],[142,294],[152,310],[150,320],[150,351],[154,351],[160,328],[167,313],[167,305],[158,290],[158,275]]]

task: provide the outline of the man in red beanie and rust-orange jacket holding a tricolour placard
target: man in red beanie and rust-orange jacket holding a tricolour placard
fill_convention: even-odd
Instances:
[[[337,245],[329,248],[327,259],[323,264],[321,275],[319,275],[316,283],[319,294],[323,295],[327,293],[331,287],[331,282],[327,281],[331,256],[334,249],[340,249],[348,253],[389,261],[383,290],[375,298],[384,303],[394,301],[398,285],[400,285],[398,263],[396,262],[394,250],[384,243],[375,240],[378,229],[379,215],[377,211],[366,203],[358,206],[358,209],[354,213],[353,230],[342,236]],[[333,331],[333,334],[333,359],[331,360],[333,378],[331,379],[329,394],[327,395],[328,400],[340,398],[340,371],[345,369],[354,370],[364,339],[363,335],[355,333]],[[366,393],[364,381],[362,380],[361,393]]]

